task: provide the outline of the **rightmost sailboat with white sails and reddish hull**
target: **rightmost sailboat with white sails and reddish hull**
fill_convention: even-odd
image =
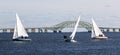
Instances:
[[[91,38],[93,38],[93,39],[107,39],[108,38],[99,29],[99,27],[95,23],[94,19],[92,19],[92,33],[91,33]]]

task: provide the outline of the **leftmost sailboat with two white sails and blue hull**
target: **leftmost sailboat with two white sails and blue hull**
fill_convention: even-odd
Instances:
[[[17,23],[14,28],[14,34],[13,34],[13,41],[29,41],[28,34],[19,18],[19,16],[16,13],[16,20]]]

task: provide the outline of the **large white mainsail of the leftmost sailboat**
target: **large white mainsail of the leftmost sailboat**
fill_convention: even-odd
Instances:
[[[18,31],[18,36],[23,36],[23,37],[28,37],[28,34],[20,20],[20,18],[18,17],[18,15],[16,14],[16,19],[17,19],[17,31]]]

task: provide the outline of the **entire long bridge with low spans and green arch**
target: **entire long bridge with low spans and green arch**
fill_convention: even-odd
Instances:
[[[64,28],[74,28],[76,21],[64,21],[62,23],[53,25],[51,27],[35,27],[35,28],[25,28],[27,32],[48,32],[51,30],[53,32],[61,32]],[[91,31],[92,24],[80,21],[78,28],[85,28]],[[110,28],[110,27],[100,27],[103,32],[120,32],[120,28]],[[14,28],[0,28],[0,32],[14,32]]]

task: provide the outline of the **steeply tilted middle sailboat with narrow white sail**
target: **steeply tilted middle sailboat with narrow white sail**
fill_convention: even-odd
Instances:
[[[80,22],[80,16],[78,17],[78,20],[76,22],[76,25],[74,27],[74,30],[73,30],[72,34],[69,37],[64,36],[64,39],[65,39],[66,42],[77,42],[77,41],[74,40],[74,37],[75,37],[76,31],[77,31],[77,27],[79,25],[79,22]]]

